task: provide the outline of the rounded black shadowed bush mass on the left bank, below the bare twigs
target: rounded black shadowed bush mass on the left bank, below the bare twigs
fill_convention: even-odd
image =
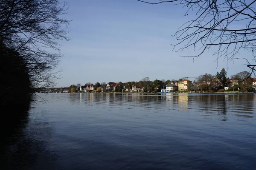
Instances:
[[[0,105],[26,105],[31,82],[24,57],[0,43],[0,59]]]

